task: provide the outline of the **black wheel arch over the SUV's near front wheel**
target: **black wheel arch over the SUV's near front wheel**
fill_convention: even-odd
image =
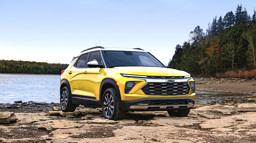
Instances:
[[[106,78],[106,79],[102,80],[101,85],[100,85],[100,90],[99,90],[100,106],[101,106],[101,100],[102,100],[103,94],[104,94],[105,90],[108,88],[115,88],[117,91],[118,99],[121,100],[121,94],[120,94],[119,87],[117,86],[117,82],[112,78]]]

